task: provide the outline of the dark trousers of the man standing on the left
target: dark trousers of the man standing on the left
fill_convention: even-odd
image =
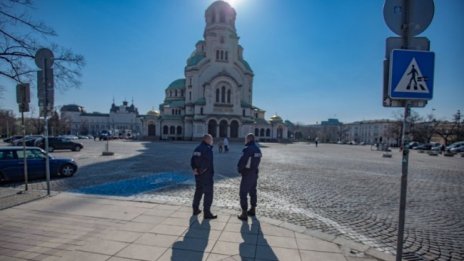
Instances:
[[[211,213],[211,204],[213,204],[213,175],[203,173],[195,176],[195,195],[193,196],[193,209],[199,209],[200,201],[203,196],[203,211],[205,214]]]

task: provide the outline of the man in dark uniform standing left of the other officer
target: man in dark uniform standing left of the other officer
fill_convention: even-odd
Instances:
[[[195,175],[195,194],[193,196],[193,215],[201,213],[200,201],[203,197],[203,211],[205,219],[215,219],[211,213],[213,203],[214,163],[213,163],[213,136],[206,134],[190,159],[190,165]]]

